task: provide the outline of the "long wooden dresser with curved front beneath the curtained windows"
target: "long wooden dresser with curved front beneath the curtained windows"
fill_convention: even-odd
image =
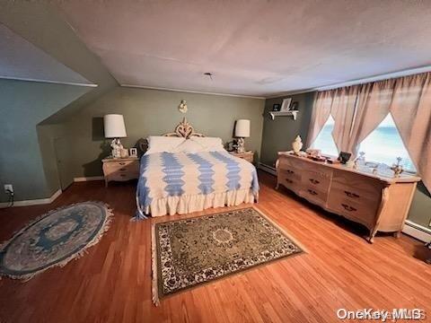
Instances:
[[[404,225],[417,182],[416,176],[393,178],[346,165],[314,162],[278,153],[277,188],[281,184],[327,211],[362,223],[373,242],[377,231],[395,232]]]

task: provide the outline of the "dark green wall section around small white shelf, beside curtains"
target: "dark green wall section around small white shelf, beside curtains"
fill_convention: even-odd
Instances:
[[[277,152],[292,150],[292,142],[296,135],[301,135],[303,144],[305,144],[312,114],[314,93],[306,92],[265,101],[261,163],[275,167]],[[298,118],[294,120],[292,117],[276,117],[272,120],[268,111],[272,111],[274,104],[281,104],[283,99],[287,97],[292,98],[292,102],[298,102]]]

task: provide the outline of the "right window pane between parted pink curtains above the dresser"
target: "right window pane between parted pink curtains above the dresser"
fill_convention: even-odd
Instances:
[[[397,157],[401,157],[400,163],[404,170],[416,172],[391,114],[364,139],[359,145],[359,152],[365,152],[366,162],[383,162],[389,166],[397,162]]]

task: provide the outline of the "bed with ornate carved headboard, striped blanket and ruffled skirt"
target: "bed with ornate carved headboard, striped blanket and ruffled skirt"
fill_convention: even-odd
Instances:
[[[173,133],[149,136],[136,188],[137,219],[254,203],[259,182],[251,162],[222,140],[194,132],[186,118]]]

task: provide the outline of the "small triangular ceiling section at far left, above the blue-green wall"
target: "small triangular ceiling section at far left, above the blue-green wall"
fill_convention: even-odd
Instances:
[[[90,81],[48,56],[0,23],[0,78],[92,86]]]

